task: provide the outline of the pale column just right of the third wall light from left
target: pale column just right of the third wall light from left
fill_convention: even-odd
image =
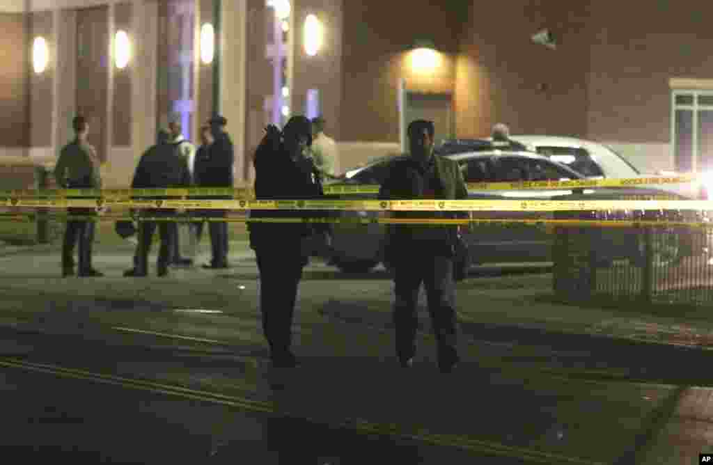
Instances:
[[[222,0],[220,6],[220,113],[235,144],[235,185],[245,183],[247,0]]]

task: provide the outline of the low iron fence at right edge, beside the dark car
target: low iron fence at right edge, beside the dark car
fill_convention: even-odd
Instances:
[[[713,305],[711,228],[558,227],[553,247],[555,294],[570,302]]]

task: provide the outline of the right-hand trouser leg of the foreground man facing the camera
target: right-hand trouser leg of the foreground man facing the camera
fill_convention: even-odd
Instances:
[[[438,362],[449,364],[458,359],[456,285],[453,281],[453,259],[429,257],[424,271],[424,287],[429,314],[438,344]]]

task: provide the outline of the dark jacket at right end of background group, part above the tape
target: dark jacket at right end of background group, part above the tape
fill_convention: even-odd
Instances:
[[[232,188],[233,145],[227,133],[212,144],[201,145],[193,163],[193,183],[202,188]]]

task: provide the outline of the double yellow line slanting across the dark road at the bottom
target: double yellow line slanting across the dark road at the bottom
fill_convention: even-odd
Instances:
[[[189,389],[186,387],[175,386],[171,384],[162,384],[156,382],[148,382],[141,379],[130,379],[118,377],[110,374],[101,374],[88,372],[82,369],[73,369],[59,367],[53,364],[41,364],[36,362],[27,362],[21,359],[0,358],[0,366],[23,369],[29,372],[39,372],[44,374],[53,374],[60,377],[71,379],[81,379],[84,381],[98,382],[102,384],[110,384],[113,386],[124,387],[128,389],[138,389],[158,394],[167,394],[185,399],[193,399],[202,402],[211,402],[213,404],[221,404],[228,407],[238,407],[252,412],[273,413],[275,408],[272,402],[255,401],[240,397],[218,394],[215,392],[200,391],[197,389]],[[307,418],[308,421],[319,421],[318,419]],[[518,459],[526,459],[528,461],[538,461],[543,464],[577,464],[577,465],[604,465],[603,462],[591,461],[588,459],[580,459],[578,457],[563,456],[560,454],[550,454],[545,451],[535,451],[532,449],[520,449],[518,447],[506,446],[489,441],[479,439],[471,439],[456,435],[431,434],[425,429],[419,429],[416,434],[399,433],[397,429],[399,425],[381,425],[373,424],[361,419],[352,419],[343,421],[339,426],[346,426],[352,429],[361,431],[369,431],[377,434],[386,434],[389,436],[400,436],[405,439],[413,439],[416,441],[436,444],[440,446],[458,447],[478,453],[496,454],[500,456],[511,456]]]

